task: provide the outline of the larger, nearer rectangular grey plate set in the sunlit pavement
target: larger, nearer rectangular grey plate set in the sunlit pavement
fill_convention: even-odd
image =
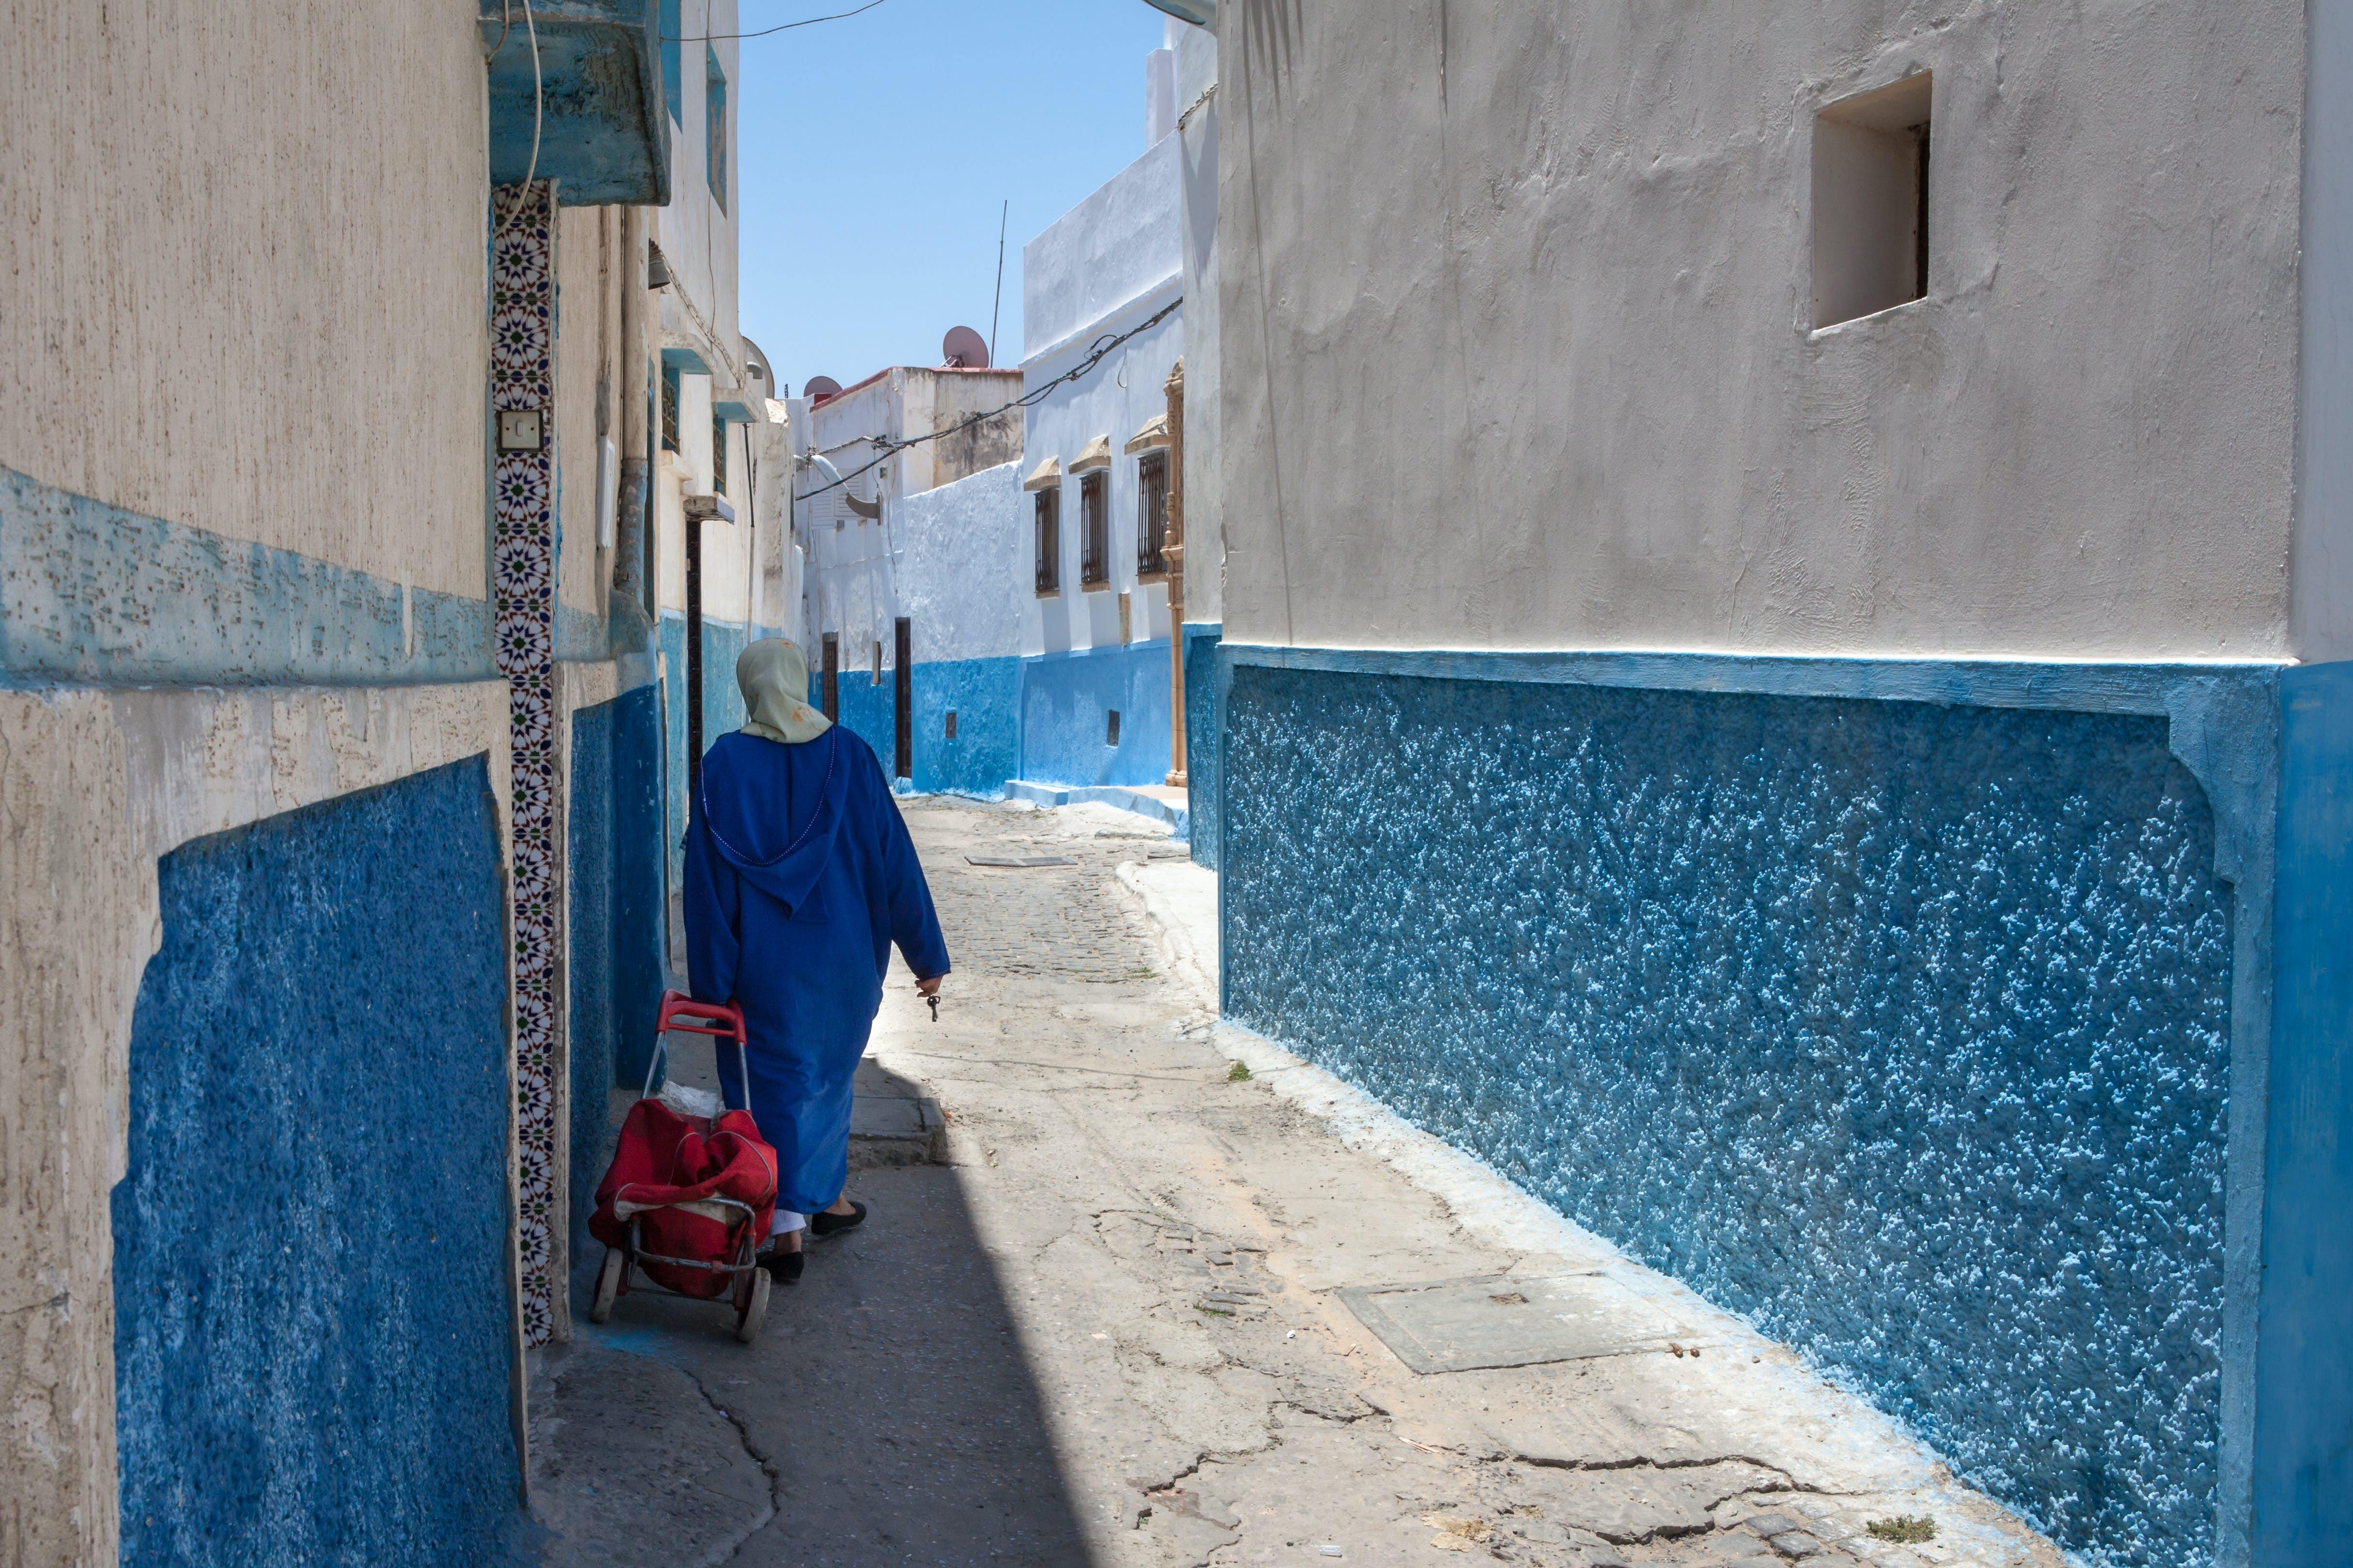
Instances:
[[[1602,1274],[1351,1286],[1339,1298],[1417,1373],[1621,1356],[1694,1338],[1654,1302]]]

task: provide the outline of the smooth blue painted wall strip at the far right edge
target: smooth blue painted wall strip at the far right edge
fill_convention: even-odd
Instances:
[[[2252,1561],[2339,1568],[2353,1552],[2353,665],[2287,670],[2280,717]]]

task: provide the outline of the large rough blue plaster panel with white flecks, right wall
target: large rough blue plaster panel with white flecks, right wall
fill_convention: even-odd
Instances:
[[[2207,1561],[2233,903],[2162,717],[1245,663],[1224,762],[1235,1020]]]

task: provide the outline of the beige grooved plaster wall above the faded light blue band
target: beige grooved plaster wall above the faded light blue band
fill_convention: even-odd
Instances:
[[[0,16],[0,463],[482,597],[471,0]]]

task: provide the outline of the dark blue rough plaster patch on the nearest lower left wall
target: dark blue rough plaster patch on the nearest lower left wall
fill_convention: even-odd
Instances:
[[[113,1190],[122,1563],[506,1561],[506,943],[473,757],[165,856]]]

